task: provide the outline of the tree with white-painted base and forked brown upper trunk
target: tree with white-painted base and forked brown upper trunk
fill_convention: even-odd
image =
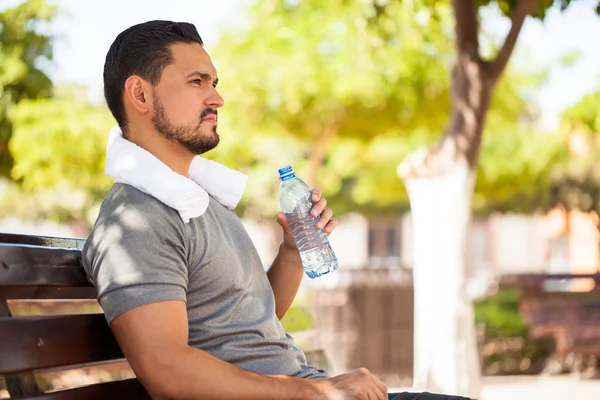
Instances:
[[[466,238],[482,133],[494,88],[526,17],[543,18],[553,2],[498,0],[512,25],[498,53],[488,60],[479,46],[478,11],[489,3],[452,2],[456,60],[451,72],[450,120],[439,143],[416,150],[398,167],[414,226],[415,383],[475,397],[479,368],[467,295],[474,271],[467,265]],[[563,10],[570,3],[559,2]]]

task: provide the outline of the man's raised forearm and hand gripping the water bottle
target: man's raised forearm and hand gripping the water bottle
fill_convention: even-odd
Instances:
[[[331,208],[325,207],[327,200],[325,197],[321,197],[319,190],[313,190],[312,196],[315,205],[311,210],[311,214],[315,218],[320,217],[316,229],[325,229],[325,233],[329,235],[337,226],[338,221],[332,218],[333,211]],[[277,222],[283,229],[283,242],[279,246],[277,257],[275,257],[275,261],[269,268],[267,276],[275,295],[275,313],[281,319],[292,305],[296,293],[298,293],[304,271],[292,230],[284,213],[277,214]]]

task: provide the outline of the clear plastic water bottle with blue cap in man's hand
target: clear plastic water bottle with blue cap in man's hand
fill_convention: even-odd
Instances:
[[[329,238],[323,229],[315,224],[320,217],[313,217],[312,191],[296,176],[291,166],[279,170],[279,205],[288,219],[304,272],[310,278],[317,278],[338,269],[338,261]]]

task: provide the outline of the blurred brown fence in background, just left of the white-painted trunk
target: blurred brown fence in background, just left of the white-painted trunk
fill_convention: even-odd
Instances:
[[[388,385],[413,373],[412,277],[402,269],[339,270],[334,288],[310,288],[308,298],[330,372],[366,367]]]

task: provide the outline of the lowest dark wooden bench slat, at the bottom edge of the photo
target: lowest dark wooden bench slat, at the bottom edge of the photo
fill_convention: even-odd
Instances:
[[[149,400],[150,396],[137,379],[104,382],[76,389],[26,397],[23,400]]]

